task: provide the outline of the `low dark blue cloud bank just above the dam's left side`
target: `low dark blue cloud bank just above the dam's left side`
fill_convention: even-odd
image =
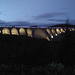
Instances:
[[[0,26],[16,26],[16,27],[30,27],[30,26],[39,26],[39,27],[46,27],[46,26],[50,26],[50,25],[53,25],[54,23],[30,23],[30,22],[27,22],[27,21],[13,21],[13,22],[5,22],[5,21],[2,21],[0,20]],[[55,25],[55,24],[54,24]]]

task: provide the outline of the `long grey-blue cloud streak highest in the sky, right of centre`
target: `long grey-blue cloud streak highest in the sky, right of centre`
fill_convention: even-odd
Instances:
[[[48,18],[53,18],[56,16],[61,16],[61,15],[66,15],[67,13],[59,12],[59,13],[45,13],[41,14],[38,16],[33,16],[35,20],[40,20],[40,19],[48,19]]]

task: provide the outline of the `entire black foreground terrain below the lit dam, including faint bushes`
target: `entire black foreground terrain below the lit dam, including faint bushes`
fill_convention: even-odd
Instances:
[[[0,35],[2,75],[75,75],[75,32],[53,41]]]

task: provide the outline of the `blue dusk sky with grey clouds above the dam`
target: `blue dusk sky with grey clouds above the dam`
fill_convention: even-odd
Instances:
[[[0,24],[75,24],[75,0],[0,0]]]

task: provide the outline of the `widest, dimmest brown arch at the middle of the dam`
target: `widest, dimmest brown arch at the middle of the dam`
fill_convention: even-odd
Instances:
[[[47,40],[50,41],[48,35],[42,29],[36,29],[35,32],[34,32],[34,37],[36,37],[36,38],[43,38],[43,39],[47,39]]]

